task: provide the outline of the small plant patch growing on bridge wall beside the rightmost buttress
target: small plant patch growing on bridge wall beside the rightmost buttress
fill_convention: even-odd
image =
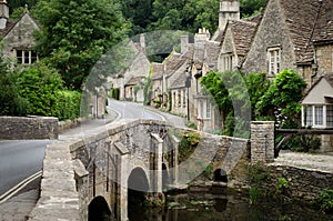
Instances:
[[[183,162],[194,152],[198,143],[200,141],[200,133],[198,132],[184,132],[182,134],[182,140],[179,143],[179,162]]]

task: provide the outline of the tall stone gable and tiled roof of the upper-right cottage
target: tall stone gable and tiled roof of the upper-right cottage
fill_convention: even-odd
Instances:
[[[332,39],[332,0],[269,0],[241,70],[274,78],[282,69],[293,69],[311,86],[327,63],[319,63],[315,48],[321,50],[316,41],[322,36],[325,44],[332,44],[327,41]],[[332,54],[332,48],[325,46],[326,50]],[[332,61],[332,56],[322,59]]]

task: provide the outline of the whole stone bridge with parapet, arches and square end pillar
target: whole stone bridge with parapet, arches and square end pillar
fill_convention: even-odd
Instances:
[[[30,219],[128,220],[132,198],[163,201],[163,190],[189,184],[206,168],[212,182],[246,187],[249,162],[273,160],[273,122],[253,124],[251,142],[200,133],[195,151],[179,163],[184,131],[162,121],[127,120],[84,138],[60,138],[47,148],[41,197]]]

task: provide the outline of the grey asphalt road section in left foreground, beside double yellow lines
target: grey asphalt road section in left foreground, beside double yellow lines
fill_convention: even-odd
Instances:
[[[0,195],[42,169],[51,140],[0,141]]]

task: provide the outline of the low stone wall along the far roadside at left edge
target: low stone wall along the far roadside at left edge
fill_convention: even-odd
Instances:
[[[52,117],[0,117],[0,140],[58,139],[58,119]]]

